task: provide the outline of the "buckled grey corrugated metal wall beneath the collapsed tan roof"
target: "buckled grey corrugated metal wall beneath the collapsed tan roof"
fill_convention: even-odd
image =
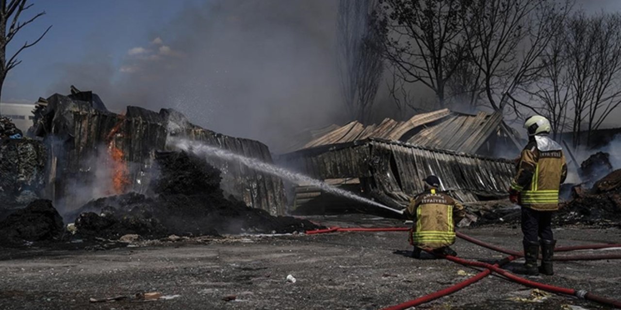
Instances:
[[[504,197],[514,170],[505,159],[374,138],[284,154],[278,162],[317,179],[358,177],[367,194],[395,208],[422,192],[429,174],[438,175],[442,190],[464,202]]]

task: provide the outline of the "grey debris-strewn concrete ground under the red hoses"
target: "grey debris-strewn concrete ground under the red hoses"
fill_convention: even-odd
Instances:
[[[360,215],[312,220],[326,226],[404,226],[401,221]],[[511,249],[518,249],[521,240],[515,226],[461,232]],[[555,234],[557,246],[621,242],[620,229],[560,228]],[[229,236],[153,243],[109,250],[0,249],[0,309],[380,309],[441,290],[478,272],[442,259],[411,259],[406,232]],[[505,256],[462,240],[454,249],[471,260],[490,262]],[[573,253],[621,254],[621,250]],[[620,260],[557,262],[555,268],[552,277],[532,279],[621,299]],[[295,283],[286,280],[288,275],[296,278]],[[89,298],[133,296],[139,291],[180,296],[89,302]],[[553,294],[532,301],[532,293],[530,288],[491,276],[417,308],[608,309]],[[236,299],[223,300],[230,295]]]

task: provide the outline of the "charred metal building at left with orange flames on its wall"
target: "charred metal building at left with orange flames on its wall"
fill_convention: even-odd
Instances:
[[[61,208],[76,208],[91,198],[130,191],[148,193],[146,185],[157,173],[153,166],[155,151],[173,149],[171,141],[176,138],[203,141],[272,161],[265,144],[206,130],[175,110],[157,113],[127,107],[120,115],[107,110],[96,94],[75,87],[71,95],[54,94],[45,101],[47,107],[34,133],[44,138],[50,149],[47,197]],[[214,164],[223,172],[225,192],[272,215],[284,214],[286,202],[280,179],[235,162]]]

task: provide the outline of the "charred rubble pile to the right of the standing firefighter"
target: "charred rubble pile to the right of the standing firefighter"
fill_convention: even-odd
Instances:
[[[561,204],[559,224],[621,224],[621,169],[597,181],[590,190],[575,188],[573,195],[573,200]]]

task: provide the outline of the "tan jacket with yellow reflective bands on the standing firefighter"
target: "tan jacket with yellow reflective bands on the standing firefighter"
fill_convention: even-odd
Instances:
[[[558,210],[558,190],[567,177],[563,149],[553,139],[536,135],[522,151],[510,190],[519,192],[521,206],[538,211]]]

